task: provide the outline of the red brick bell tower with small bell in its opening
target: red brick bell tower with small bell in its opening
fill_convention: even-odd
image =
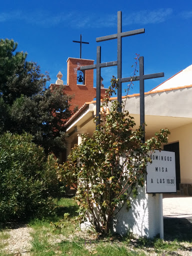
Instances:
[[[80,66],[92,65],[94,60],[83,58],[68,58],[67,59],[67,82],[63,85],[61,80],[62,74],[60,71],[57,74],[55,83],[50,84],[50,89],[55,85],[63,85],[63,93],[72,95],[74,98],[70,101],[70,108],[73,109],[76,105],[80,108],[85,102],[92,101],[96,97],[96,88],[93,87],[93,69],[80,71]],[[102,81],[102,77],[101,77]],[[100,98],[103,98],[105,89],[101,83]]]

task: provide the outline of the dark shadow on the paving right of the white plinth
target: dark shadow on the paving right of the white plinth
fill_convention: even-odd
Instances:
[[[164,217],[164,239],[192,242],[192,218]]]

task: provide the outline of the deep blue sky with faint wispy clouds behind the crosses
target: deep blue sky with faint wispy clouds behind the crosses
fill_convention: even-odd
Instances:
[[[116,60],[116,39],[96,43],[95,38],[117,32],[117,11],[122,11],[122,31],[145,28],[145,33],[122,38],[122,77],[132,75],[135,53],[144,56],[144,73],[164,72],[163,78],[145,81],[145,91],[192,64],[191,0],[6,0],[0,6],[0,37],[14,39],[27,60],[49,72],[52,83],[60,70],[66,83],[66,60],[79,57]],[[104,86],[116,67],[101,69]],[[49,84],[47,84],[49,85]],[[125,86],[125,84],[124,84]],[[137,82],[132,92],[138,92]]]

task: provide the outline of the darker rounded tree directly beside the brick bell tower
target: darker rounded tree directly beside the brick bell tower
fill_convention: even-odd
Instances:
[[[17,98],[10,110],[11,131],[21,134],[24,131],[34,136],[33,141],[42,145],[47,155],[56,155],[65,148],[64,122],[71,115],[68,96],[61,88],[44,90],[32,98]]]

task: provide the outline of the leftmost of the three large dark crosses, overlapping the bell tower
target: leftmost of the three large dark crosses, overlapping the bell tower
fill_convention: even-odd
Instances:
[[[96,116],[98,117],[96,120],[96,126],[100,123],[100,68],[106,66],[115,66],[117,65],[117,61],[103,62],[101,61],[101,48],[100,46],[96,47],[96,64],[81,66],[80,70],[87,69],[95,69],[96,68]]]

